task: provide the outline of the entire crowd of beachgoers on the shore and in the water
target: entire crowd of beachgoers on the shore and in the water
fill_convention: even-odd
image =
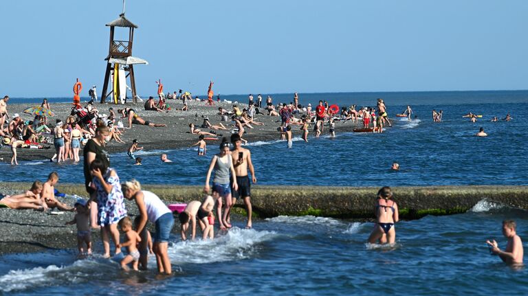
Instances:
[[[94,95],[91,92],[91,95]],[[96,95],[95,95],[96,96]],[[159,95],[157,104],[153,98],[149,98],[144,107],[149,111],[168,112],[170,106],[167,99],[183,100],[184,109],[188,111],[186,100],[192,100],[188,92],[179,91],[165,95]],[[121,261],[123,269],[146,269],[148,253],[155,254],[157,271],[159,273],[171,273],[170,260],[168,258],[168,240],[174,225],[173,212],[156,196],[153,192],[142,190],[140,182],[136,180],[121,183],[118,172],[110,167],[110,155],[107,152],[106,144],[109,141],[122,143],[120,135],[124,128],[132,128],[133,124],[140,124],[151,127],[162,127],[166,124],[155,124],[145,120],[135,110],[126,106],[118,109],[116,116],[113,108],[109,109],[109,115],[101,115],[93,104],[93,100],[82,108],[79,104],[74,104],[72,113],[65,122],[56,119],[55,126],[50,123],[50,118],[46,115],[35,115],[34,120],[24,122],[18,114],[14,114],[10,121],[7,102],[8,96],[0,100],[0,135],[3,136],[3,143],[10,145],[13,151],[12,164],[17,164],[17,147],[23,145],[37,146],[41,148],[46,143],[43,133],[53,136],[53,143],[56,149],[57,162],[73,159],[75,163],[80,162],[78,153],[83,145],[83,167],[85,174],[85,189],[89,194],[89,199],[79,198],[74,207],[69,207],[65,203],[58,201],[55,196],[55,185],[58,183],[58,174],[52,172],[44,183],[35,181],[27,192],[14,196],[1,196],[0,207],[10,209],[35,209],[47,211],[50,208],[58,208],[63,211],[75,212],[74,219],[67,224],[76,225],[78,250],[80,254],[91,254],[91,229],[100,229],[103,244],[104,257],[111,256],[110,241],[115,246],[113,255],[121,253],[121,248],[126,247],[127,254]],[[219,97],[217,97],[219,100]],[[220,122],[212,124],[208,117],[203,117],[201,128],[211,130],[210,132],[200,130],[194,123],[189,124],[190,133],[198,136],[198,141],[192,146],[197,146],[199,155],[206,155],[206,137],[223,137],[220,133],[230,133],[230,139],[223,137],[219,144],[219,153],[212,156],[206,174],[206,182],[203,188],[204,196],[201,201],[190,201],[185,209],[178,215],[180,222],[181,240],[194,240],[196,238],[197,224],[202,231],[203,239],[214,238],[214,222],[218,221],[220,231],[227,231],[232,227],[230,212],[240,198],[246,209],[247,223],[245,228],[252,228],[252,204],[251,204],[251,183],[256,183],[254,166],[252,164],[251,152],[242,145],[247,143],[243,136],[246,129],[253,129],[263,125],[257,120],[256,115],[263,115],[262,95],[258,95],[254,100],[253,95],[248,96],[248,108],[239,107],[233,104],[232,110],[218,108]],[[331,137],[336,134],[336,122],[351,120],[354,123],[362,121],[362,127],[368,132],[382,133],[384,126],[391,127],[391,120],[384,100],[378,99],[375,107],[365,106],[359,111],[356,106],[339,108],[336,105],[329,105],[328,102],[320,100],[314,110],[311,104],[303,106],[299,102],[298,93],[294,93],[294,100],[289,104],[279,104],[274,106],[271,96],[267,96],[266,106],[267,116],[280,117],[280,126],[277,130],[281,133],[281,139],[287,142],[287,147],[292,148],[292,130],[294,126],[302,131],[302,139],[308,142],[310,124],[314,124],[314,137],[320,137],[324,133],[325,126]],[[41,104],[41,109],[52,111],[47,100]],[[339,113],[340,111],[340,113]],[[414,112],[407,106],[402,115],[412,120]],[[434,122],[441,122],[443,112],[432,111]],[[196,114],[196,117],[198,115]],[[469,113],[472,122],[476,122],[477,115]],[[118,119],[124,119],[128,126],[121,126]],[[509,114],[505,120],[509,121]],[[221,121],[226,122],[223,124]],[[232,122],[229,124],[228,122]],[[4,124],[7,123],[7,128]],[[372,124],[372,125],[371,125]],[[49,126],[48,126],[49,125]],[[372,127],[371,127],[372,126]],[[483,128],[476,134],[486,136]],[[134,139],[127,150],[127,155],[141,165],[142,159],[135,156],[135,152],[142,150],[140,141]],[[171,162],[167,155],[161,155],[160,161]],[[399,170],[399,164],[393,163],[393,170]],[[214,175],[213,175],[214,173]],[[251,177],[250,177],[251,175]],[[250,179],[251,178],[251,179]],[[212,186],[210,180],[212,179]],[[134,221],[129,218],[124,200],[134,201],[140,213]],[[214,209],[216,208],[216,216]],[[393,198],[390,187],[382,187],[377,194],[375,202],[375,227],[369,236],[368,242],[380,244],[395,243],[395,223],[399,220],[397,203]],[[154,236],[147,230],[146,224],[150,221],[155,228]],[[120,240],[120,231],[126,238],[124,242]],[[190,236],[188,230],[190,229]],[[494,240],[488,240],[490,252],[496,253],[501,259],[509,263],[522,262],[522,242],[516,235],[516,225],[514,221],[505,220],[503,223],[503,234],[508,238],[505,251],[498,248]]]

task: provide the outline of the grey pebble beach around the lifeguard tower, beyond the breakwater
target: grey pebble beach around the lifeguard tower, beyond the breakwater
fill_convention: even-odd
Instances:
[[[145,111],[143,103],[140,102],[135,105],[126,104],[126,105],[115,105],[115,104],[99,104],[96,103],[94,106],[98,109],[99,113],[108,115],[108,109],[112,107],[114,111],[121,109],[124,106],[133,108],[140,117],[150,122],[156,124],[166,124],[166,127],[149,127],[133,124],[131,129],[124,129],[124,134],[121,136],[121,139],[125,141],[125,144],[116,143],[111,141],[107,144],[107,149],[109,152],[125,152],[129,148],[133,139],[138,139],[141,146],[145,150],[167,150],[167,149],[177,149],[188,147],[192,144],[195,144],[198,141],[197,135],[192,135],[189,133],[188,124],[194,123],[197,128],[200,128],[203,117],[208,117],[211,124],[218,124],[221,119],[221,116],[218,115],[218,107],[221,106],[223,109],[232,110],[232,106],[235,102],[215,102],[214,106],[206,106],[205,102],[191,101],[188,103],[189,111],[181,111],[183,103],[181,100],[167,100],[167,103],[170,105],[171,110],[168,112],[157,112],[157,111]],[[83,103],[83,106],[86,103]],[[37,104],[8,104],[8,112],[12,116],[14,113],[19,113],[22,119],[32,120],[33,116],[23,113],[23,110],[34,106]],[[242,110],[248,108],[248,104],[238,104],[239,108]],[[55,119],[65,120],[69,115],[72,109],[72,104],[61,103],[61,104],[51,104],[51,109],[55,113],[54,117],[50,117],[50,128],[54,126]],[[263,122],[264,126],[254,125],[254,128],[245,128],[246,134],[244,136],[248,141],[270,141],[273,139],[279,139],[280,135],[276,130],[278,126],[281,125],[281,118],[276,116],[268,116],[267,111],[263,111],[265,114],[255,115],[254,119],[258,122]],[[301,113],[302,115],[303,113]],[[120,115],[116,112],[116,116]],[[300,116],[296,116],[300,117]],[[122,120],[124,126],[127,126],[127,122]],[[217,134],[221,134],[224,137],[230,137],[231,130],[234,128],[233,122],[222,122],[229,130],[216,130]],[[352,131],[353,128],[358,127],[359,125],[353,124],[351,121],[347,122],[336,122],[336,131]],[[200,128],[203,131],[211,131],[212,129]],[[293,136],[300,136],[300,126],[292,126]],[[311,132],[311,130],[310,130]],[[310,135],[311,137],[312,135]],[[52,138],[52,135],[47,135],[47,137]],[[221,139],[221,137],[219,137]],[[212,147],[217,146],[217,141],[208,141],[208,144]],[[19,148],[18,151],[18,160],[19,161],[30,161],[30,160],[43,160],[50,159],[54,155],[53,144],[45,145],[50,146],[50,149],[25,149]],[[81,147],[82,150],[82,147]],[[82,151],[79,153],[82,157]],[[3,146],[0,149],[0,161],[8,162],[10,161],[11,151],[10,147]]]

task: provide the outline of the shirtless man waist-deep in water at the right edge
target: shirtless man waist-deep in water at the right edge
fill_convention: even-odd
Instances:
[[[507,264],[522,264],[524,249],[522,248],[522,241],[516,233],[516,228],[517,225],[514,220],[503,221],[503,235],[508,239],[504,251],[498,248],[495,240],[486,240],[486,243],[489,244],[490,251],[498,255]]]

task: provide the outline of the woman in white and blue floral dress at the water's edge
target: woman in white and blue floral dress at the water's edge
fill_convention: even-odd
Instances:
[[[97,223],[101,227],[104,257],[110,257],[110,238],[115,244],[115,254],[121,253],[118,248],[119,220],[126,217],[123,193],[118,174],[108,164],[98,159],[90,163],[92,186],[97,190]]]

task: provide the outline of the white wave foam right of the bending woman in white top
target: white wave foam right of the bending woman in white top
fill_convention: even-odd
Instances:
[[[173,264],[243,260],[250,258],[257,251],[259,244],[276,236],[278,234],[274,231],[233,227],[227,234],[217,236],[214,240],[178,242],[168,249],[168,255]]]

